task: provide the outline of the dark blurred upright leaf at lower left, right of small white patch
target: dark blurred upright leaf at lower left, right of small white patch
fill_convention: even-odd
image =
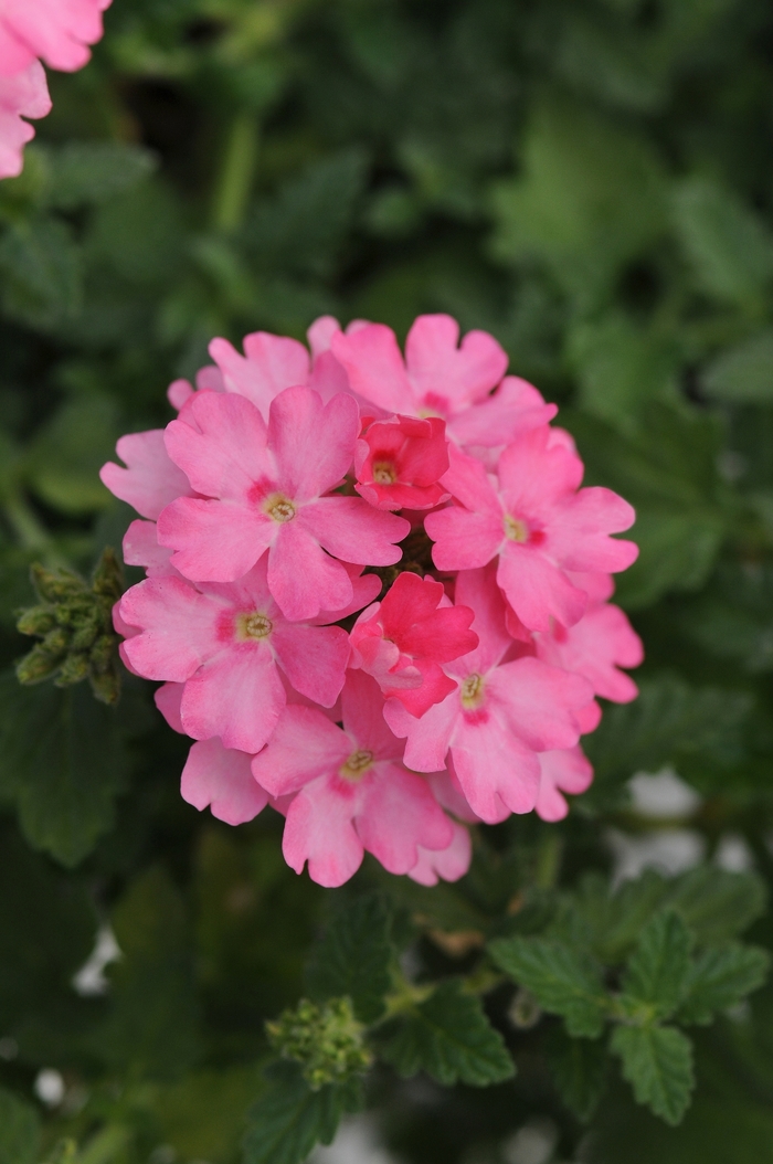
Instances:
[[[121,957],[99,1050],[116,1071],[176,1079],[199,1051],[192,941],[184,902],[158,868],[139,876],[111,918]]]

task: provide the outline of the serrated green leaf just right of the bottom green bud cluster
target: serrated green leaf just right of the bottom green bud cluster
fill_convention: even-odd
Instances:
[[[380,1053],[405,1077],[425,1071],[444,1087],[488,1087],[515,1074],[502,1035],[481,1000],[446,979],[428,999],[384,1029]]]

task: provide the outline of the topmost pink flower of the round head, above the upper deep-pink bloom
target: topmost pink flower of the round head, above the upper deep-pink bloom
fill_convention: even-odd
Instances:
[[[487,332],[468,332],[458,346],[459,325],[451,315],[419,315],[405,342],[405,363],[383,324],[349,325],[346,334],[331,332],[329,343],[360,397],[386,413],[442,417],[460,445],[504,445],[558,411],[526,381],[502,378],[508,356]]]

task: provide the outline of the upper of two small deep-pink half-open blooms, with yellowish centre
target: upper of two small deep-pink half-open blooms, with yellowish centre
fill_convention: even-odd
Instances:
[[[448,497],[438,483],[448,469],[446,446],[438,417],[376,420],[357,441],[355,489],[377,509],[432,509]]]

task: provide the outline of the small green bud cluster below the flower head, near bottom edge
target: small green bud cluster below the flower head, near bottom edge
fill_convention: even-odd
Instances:
[[[364,1027],[357,1022],[348,998],[317,1006],[302,999],[265,1029],[271,1045],[286,1059],[303,1066],[312,1091],[362,1074],[373,1063],[364,1045]]]

